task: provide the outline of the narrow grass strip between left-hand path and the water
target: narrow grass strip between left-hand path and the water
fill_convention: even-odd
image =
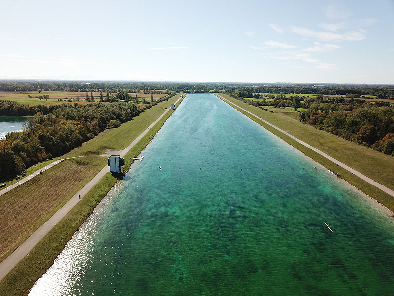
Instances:
[[[179,102],[180,103],[180,102]],[[170,110],[125,156],[125,168],[133,162],[155,136],[164,122],[172,114]],[[0,295],[26,295],[39,277],[53,264],[56,256],[62,252],[80,225],[86,221],[94,208],[107,192],[115,185],[117,179],[107,173],[97,185],[22,259],[0,282]]]

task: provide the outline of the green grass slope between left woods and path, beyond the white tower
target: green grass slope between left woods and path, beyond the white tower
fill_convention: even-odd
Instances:
[[[145,112],[140,113],[131,121],[122,123],[115,129],[107,129],[99,133],[95,138],[83,143],[80,147],[73,149],[65,157],[79,155],[101,155],[107,150],[121,150],[126,148],[136,137],[139,136],[153,121],[164,113],[163,108],[170,108],[181,94],[177,94],[168,101],[160,102]]]

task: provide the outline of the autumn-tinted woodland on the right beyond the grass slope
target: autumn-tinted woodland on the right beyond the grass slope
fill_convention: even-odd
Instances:
[[[358,98],[286,97],[284,93],[270,96],[246,91],[230,96],[266,111],[264,106],[293,107],[296,111],[302,108],[301,122],[394,156],[394,107],[390,102],[372,104]]]

